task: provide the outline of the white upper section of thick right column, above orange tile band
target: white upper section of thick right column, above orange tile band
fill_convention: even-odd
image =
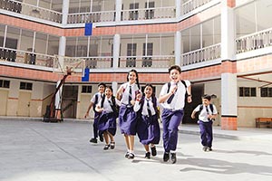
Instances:
[[[221,9],[221,58],[223,61],[235,59],[235,14],[234,10],[223,1]]]

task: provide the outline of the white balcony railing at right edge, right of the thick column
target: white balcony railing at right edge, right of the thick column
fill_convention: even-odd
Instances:
[[[272,45],[272,28],[236,39],[237,53],[253,51]]]

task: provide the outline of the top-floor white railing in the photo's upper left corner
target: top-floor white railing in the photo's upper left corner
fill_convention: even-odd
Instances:
[[[46,9],[43,7],[39,7],[36,5],[25,4],[19,1],[1,0],[0,8],[18,14],[30,15],[33,17],[37,17],[40,19],[48,20],[59,24],[62,23],[63,19],[62,13]]]

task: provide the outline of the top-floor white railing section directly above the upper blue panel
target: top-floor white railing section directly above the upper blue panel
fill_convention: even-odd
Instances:
[[[115,12],[92,12],[92,13],[78,13],[68,14],[67,24],[85,24],[85,23],[100,23],[100,22],[114,22]]]

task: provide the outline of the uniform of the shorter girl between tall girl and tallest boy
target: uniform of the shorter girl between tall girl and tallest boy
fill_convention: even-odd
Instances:
[[[157,102],[155,97],[150,99],[143,97],[140,101],[135,102],[133,108],[138,113],[137,135],[143,145],[159,144],[160,142],[158,113],[154,109],[152,99]]]

